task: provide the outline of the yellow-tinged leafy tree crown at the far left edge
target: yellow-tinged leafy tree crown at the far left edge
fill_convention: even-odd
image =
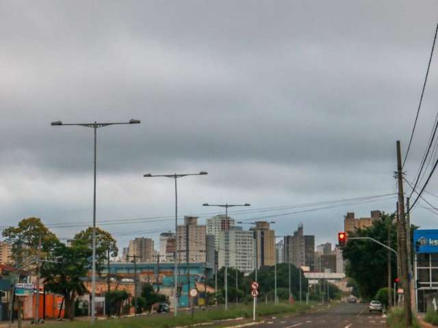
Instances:
[[[12,260],[32,261],[36,256],[51,256],[51,251],[59,243],[41,219],[29,217],[18,222],[16,227],[9,227],[2,233],[5,241],[12,246]],[[41,249],[38,251],[41,238]],[[21,249],[21,251],[19,251]]]

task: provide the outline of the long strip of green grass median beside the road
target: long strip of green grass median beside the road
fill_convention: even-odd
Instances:
[[[303,312],[311,308],[311,304],[296,302],[293,305],[287,303],[273,304],[259,304],[257,305],[257,316],[270,315],[287,315]],[[225,320],[232,318],[252,318],[253,305],[231,305],[226,312],[222,309],[211,308],[207,310],[196,309],[194,318],[191,317],[190,312],[179,312],[175,318],[172,314],[154,315],[154,316],[137,316],[130,318],[109,318],[106,320],[98,320],[94,327],[96,328],[172,328],[196,325],[198,323],[213,323],[216,320]],[[89,328],[88,321],[73,321],[59,324],[51,324],[49,327],[57,328]]]

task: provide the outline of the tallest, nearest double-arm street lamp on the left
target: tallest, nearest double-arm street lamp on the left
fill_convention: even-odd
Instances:
[[[97,129],[109,125],[140,124],[140,120],[131,119],[129,122],[93,122],[93,123],[68,123],[61,121],[51,122],[52,126],[76,125],[92,128],[94,130],[94,184],[93,184],[93,241],[92,241],[92,296],[91,296],[91,322],[94,323],[96,312],[96,161],[97,161]]]

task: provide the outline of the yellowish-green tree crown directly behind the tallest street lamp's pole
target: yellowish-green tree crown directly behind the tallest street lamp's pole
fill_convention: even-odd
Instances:
[[[81,240],[87,245],[92,245],[93,228],[89,227],[75,234],[75,240]],[[91,248],[91,247],[90,247]],[[96,227],[96,271],[101,272],[105,267],[105,261],[108,258],[108,249],[110,256],[115,257],[118,254],[116,239],[113,238],[110,232]]]

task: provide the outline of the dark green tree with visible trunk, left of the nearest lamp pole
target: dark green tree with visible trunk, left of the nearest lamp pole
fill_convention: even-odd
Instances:
[[[90,256],[91,250],[83,241],[75,241],[70,247],[58,243],[53,249],[56,262],[42,266],[45,288],[64,296],[64,318],[73,320],[75,298],[87,292],[82,278],[88,273]]]

